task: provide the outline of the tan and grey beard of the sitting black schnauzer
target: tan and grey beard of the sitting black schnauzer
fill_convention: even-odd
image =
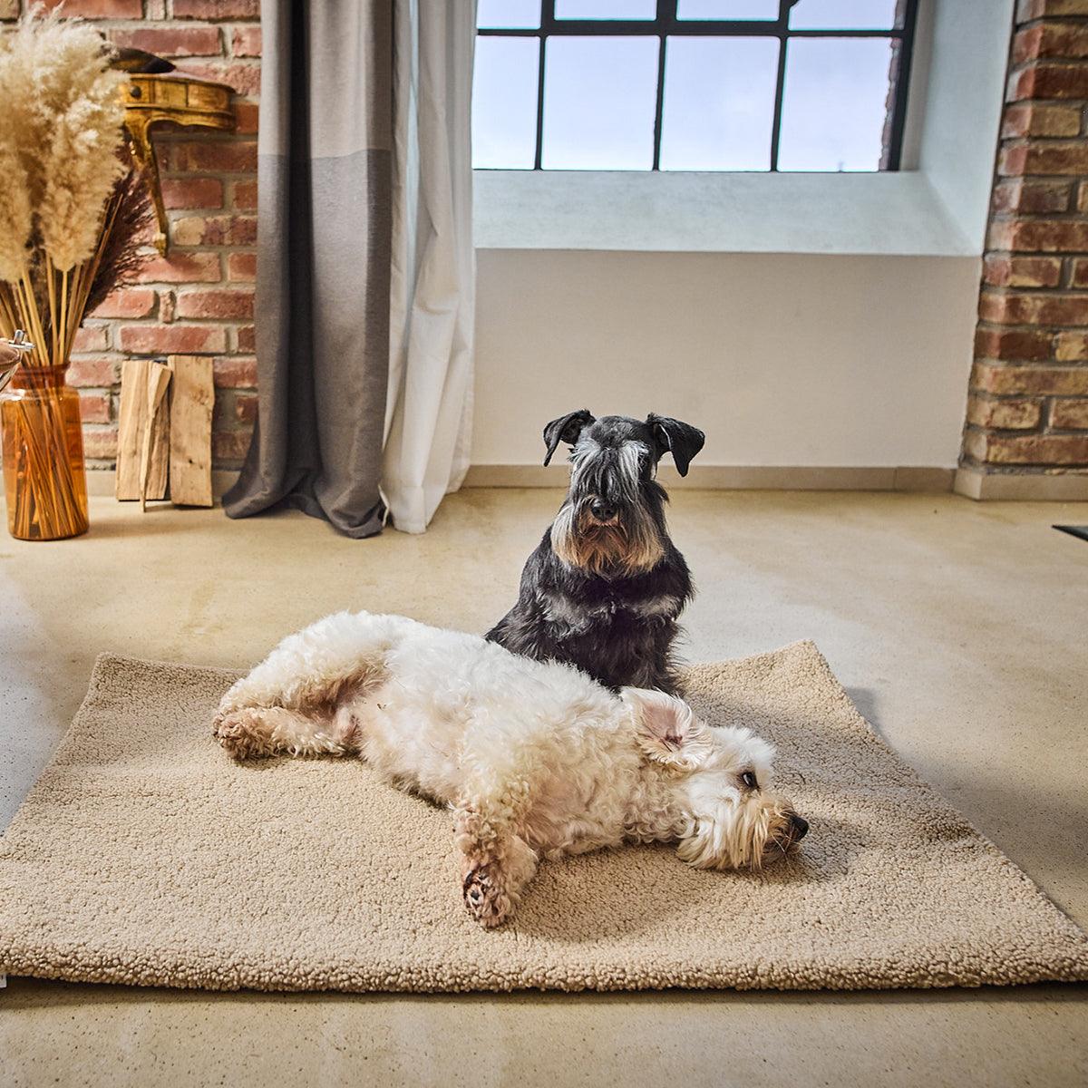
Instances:
[[[665,557],[657,526],[643,511],[603,524],[569,503],[552,526],[552,547],[564,562],[594,574],[636,574]]]

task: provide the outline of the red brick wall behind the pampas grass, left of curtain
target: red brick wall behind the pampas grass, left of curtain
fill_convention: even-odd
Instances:
[[[54,7],[55,0],[47,0]],[[67,0],[114,41],[169,57],[182,74],[237,92],[237,132],[160,129],[156,137],[170,215],[170,256],[148,263],[79,333],[69,381],[83,399],[89,467],[114,463],[121,360],[210,355],[215,368],[214,467],[236,468],[257,411],[254,279],[257,240],[257,98],[260,0]],[[0,18],[20,0],[0,0]]]

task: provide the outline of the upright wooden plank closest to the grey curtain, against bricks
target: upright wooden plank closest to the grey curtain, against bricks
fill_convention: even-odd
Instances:
[[[211,359],[171,357],[170,499],[175,506],[211,506],[211,413],[215,404]]]

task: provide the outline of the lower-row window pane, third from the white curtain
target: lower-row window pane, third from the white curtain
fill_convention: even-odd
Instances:
[[[669,38],[662,170],[769,170],[777,38]]]

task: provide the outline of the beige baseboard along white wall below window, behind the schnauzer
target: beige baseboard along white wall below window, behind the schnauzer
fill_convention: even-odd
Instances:
[[[950,491],[953,469],[821,468],[813,466],[693,465],[681,478],[662,466],[658,480],[670,489],[707,491]],[[473,465],[466,487],[566,487],[566,465]]]

